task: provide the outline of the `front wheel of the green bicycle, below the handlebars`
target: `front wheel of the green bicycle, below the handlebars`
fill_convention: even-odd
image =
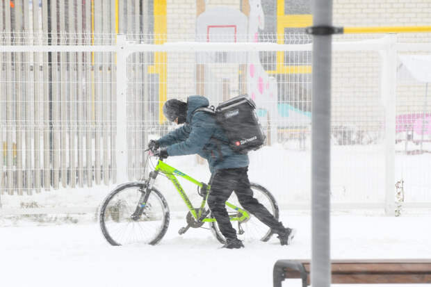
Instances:
[[[140,200],[145,192],[150,192],[149,197],[136,216],[137,208],[143,206]],[[101,204],[99,223],[111,245],[155,245],[168,229],[168,203],[156,188],[147,190],[143,183],[125,183],[115,188]]]

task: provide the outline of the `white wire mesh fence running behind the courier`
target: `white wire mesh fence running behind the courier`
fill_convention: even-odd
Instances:
[[[145,20],[129,4],[121,4],[115,21],[111,1],[22,3],[24,8],[18,11],[6,9],[2,2],[0,10],[3,194],[111,185],[117,183],[119,172],[127,174],[128,180],[139,179],[148,140],[174,129],[161,113],[167,99],[204,95],[217,106],[247,93],[257,103],[268,136],[268,147],[250,153],[256,167],[251,168],[251,177],[263,181],[284,204],[309,201],[311,38],[302,31],[245,34],[239,28],[219,26],[202,35],[156,33],[154,17],[163,16]],[[142,44],[124,63],[118,63],[117,48],[109,48],[117,47],[117,33],[127,34],[125,49]],[[359,42],[380,38],[334,37],[335,46],[350,47],[334,51],[332,64],[332,196],[336,203],[384,201],[384,49],[357,48]],[[401,44],[429,40],[428,34],[398,36]],[[196,43],[202,42],[214,45],[198,47]],[[232,42],[245,46],[225,49],[220,45]],[[7,47],[16,49],[6,51]],[[22,47],[34,49],[24,52]],[[82,49],[49,51],[47,47]],[[412,64],[415,55],[428,57],[429,51],[399,52],[398,74],[402,69],[421,69],[420,63]],[[118,83],[119,67],[124,67],[127,83]],[[117,106],[124,103],[118,102],[118,85],[127,86],[127,114],[120,117]],[[396,181],[404,182],[409,192],[406,201],[429,202],[428,84],[400,79],[396,92]],[[121,126],[119,120],[124,120]],[[125,158],[117,158],[118,129],[126,129]],[[127,162],[127,170],[118,170],[120,160]],[[190,170],[203,170],[199,158],[188,157],[185,162]]]

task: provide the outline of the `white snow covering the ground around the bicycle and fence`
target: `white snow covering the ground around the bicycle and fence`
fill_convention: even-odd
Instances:
[[[195,159],[181,156],[168,158],[167,163],[208,181],[208,168]],[[431,154],[396,155],[396,180],[405,181],[407,202],[431,201],[430,159]],[[332,202],[384,204],[383,167],[382,146],[334,147]],[[70,206],[94,209],[85,216],[63,220],[56,215],[42,215],[33,221],[25,216],[0,217],[0,286],[272,286],[275,261],[311,256],[309,211],[291,208],[297,203],[309,206],[310,172],[309,151],[275,146],[250,153],[250,180],[273,192],[282,221],[298,229],[288,247],[272,238],[268,243],[246,242],[245,249],[219,249],[220,243],[206,229],[190,229],[179,236],[186,210],[163,177],[157,179],[156,186],[174,212],[168,233],[156,246],[112,247],[106,243],[95,222],[95,208],[114,186],[1,195],[3,208],[36,202],[57,210]],[[200,197],[195,186],[180,182],[197,204]],[[431,259],[430,211],[403,209],[402,216],[395,218],[382,216],[382,208],[377,213],[346,209],[332,216],[333,259]]]

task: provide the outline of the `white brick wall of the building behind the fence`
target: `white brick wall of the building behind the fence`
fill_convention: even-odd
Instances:
[[[168,0],[168,40],[193,40],[195,38],[195,0]],[[206,7],[228,6],[241,8],[239,0],[211,0]],[[334,0],[335,26],[426,26],[431,25],[430,0]],[[337,39],[375,38],[382,35],[342,35]],[[400,41],[430,41],[428,34],[398,35]],[[348,123],[364,121],[375,125],[382,118],[379,79],[380,57],[376,53],[339,53],[333,66],[334,120]],[[168,55],[168,98],[187,97],[196,92],[195,56],[190,54]],[[218,71],[220,72],[221,67]],[[227,68],[228,75],[231,70]],[[214,71],[214,74],[220,74]],[[213,74],[213,75],[214,75]],[[231,74],[231,89],[238,90],[238,77]],[[398,88],[398,113],[423,110],[425,97],[423,85],[404,85]],[[360,105],[359,105],[360,104]],[[431,105],[430,105],[431,106]]]

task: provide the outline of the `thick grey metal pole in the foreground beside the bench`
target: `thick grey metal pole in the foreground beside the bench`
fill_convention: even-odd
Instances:
[[[332,0],[313,1],[313,25],[332,26]],[[311,284],[329,287],[331,35],[313,38],[311,101]]]

